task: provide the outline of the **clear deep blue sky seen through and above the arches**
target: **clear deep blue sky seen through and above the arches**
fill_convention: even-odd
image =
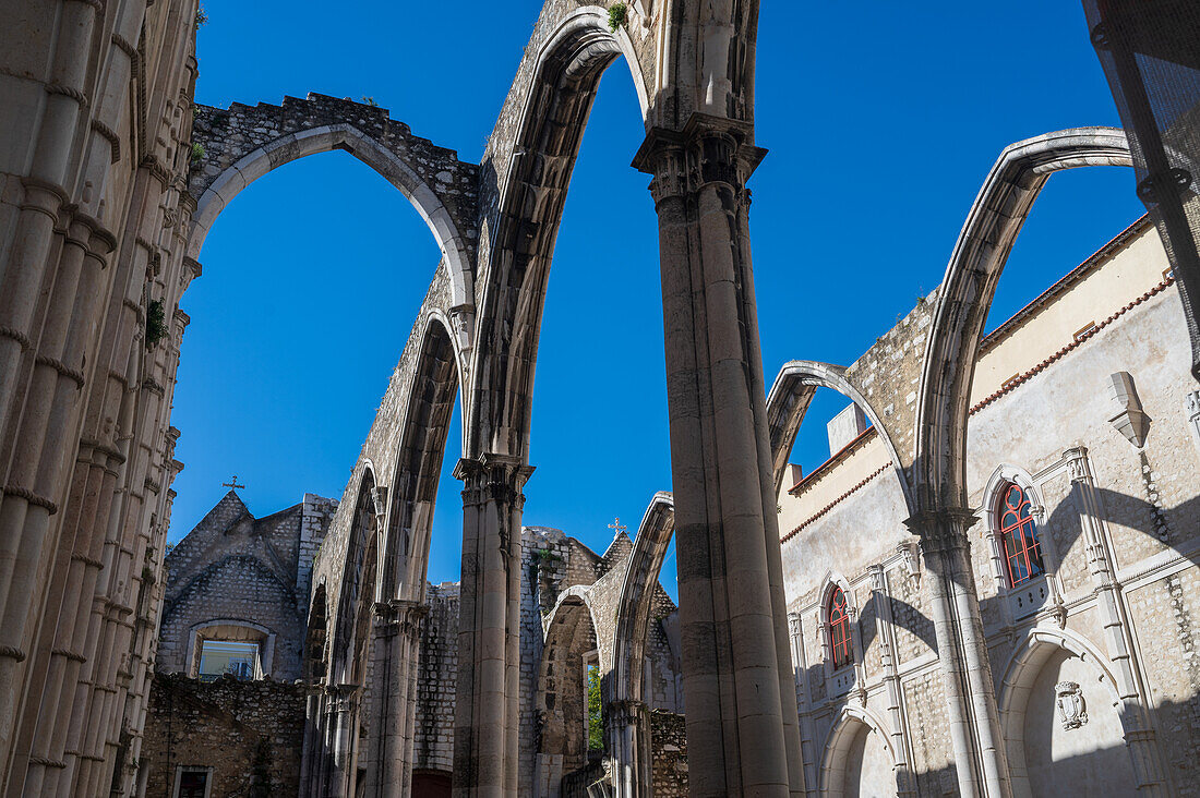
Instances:
[[[371,96],[478,160],[516,72],[534,0],[247,4],[205,0],[197,101]],[[768,382],[786,360],[848,364],[942,278],[1001,149],[1116,110],[1078,2],[764,2],[751,181]],[[628,164],[643,128],[628,67],[606,73],[554,254],[541,332],[526,523],[598,551],[671,486],[656,221]],[[1055,176],[1001,281],[995,326],[1141,214],[1133,175]],[[437,264],[408,203],[349,155],[260,179],[221,215],[184,298],[172,539],[234,473],[257,515],[341,497]],[[818,395],[793,450],[828,455]],[[457,580],[457,428],[430,563]],[[666,570],[673,570],[668,563]],[[673,574],[672,581],[673,581]],[[672,590],[673,593],[673,590]]]

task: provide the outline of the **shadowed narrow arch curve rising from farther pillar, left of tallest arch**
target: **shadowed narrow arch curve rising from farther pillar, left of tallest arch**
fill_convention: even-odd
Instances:
[[[425,600],[430,534],[445,457],[446,437],[458,386],[461,354],[454,328],[440,310],[427,311],[416,368],[397,432],[388,534],[383,541],[380,595],[384,600]],[[466,419],[463,419],[466,421]],[[466,437],[464,437],[466,439]]]

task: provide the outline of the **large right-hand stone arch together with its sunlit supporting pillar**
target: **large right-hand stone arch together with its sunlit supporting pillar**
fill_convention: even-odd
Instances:
[[[931,614],[964,794],[1012,791],[966,538],[976,520],[966,500],[967,418],[983,325],[1013,242],[1050,175],[1129,164],[1124,133],[1108,127],[1004,148],[967,215],[934,307],[913,422],[917,511],[907,523],[922,539],[932,577]]]

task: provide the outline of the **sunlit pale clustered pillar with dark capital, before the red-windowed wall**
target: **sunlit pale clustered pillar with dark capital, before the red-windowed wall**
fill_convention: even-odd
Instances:
[[[946,688],[959,792],[1010,798],[1008,758],[971,568],[970,510],[936,510],[905,523],[920,538],[929,571],[930,612]]]

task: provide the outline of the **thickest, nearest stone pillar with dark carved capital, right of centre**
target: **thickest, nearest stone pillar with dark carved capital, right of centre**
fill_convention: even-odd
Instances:
[[[659,215],[695,796],[803,785],[750,265],[745,181],[763,155],[749,125],[697,113],[634,163]]]

